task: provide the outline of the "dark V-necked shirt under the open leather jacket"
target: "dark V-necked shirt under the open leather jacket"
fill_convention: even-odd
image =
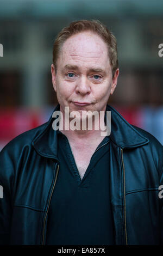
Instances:
[[[49,206],[47,245],[114,245],[109,150],[107,136],[81,180],[68,139],[58,131],[59,173]]]

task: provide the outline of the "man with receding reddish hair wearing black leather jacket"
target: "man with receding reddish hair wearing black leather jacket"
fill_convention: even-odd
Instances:
[[[115,36],[99,21],[72,22],[54,42],[51,70],[54,118],[1,151],[1,243],[162,243],[162,145],[107,105],[119,75]],[[70,129],[74,111],[86,129]],[[109,111],[111,132],[103,137]],[[105,115],[92,118],[93,112]]]

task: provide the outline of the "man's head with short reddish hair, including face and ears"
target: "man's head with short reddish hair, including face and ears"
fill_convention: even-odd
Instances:
[[[62,112],[104,111],[119,74],[114,35],[99,21],[72,22],[54,42],[51,71]]]

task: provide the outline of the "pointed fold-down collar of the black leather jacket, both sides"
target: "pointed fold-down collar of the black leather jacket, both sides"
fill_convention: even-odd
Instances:
[[[59,104],[54,109],[59,111]],[[149,140],[131,126],[115,108],[107,105],[106,111],[111,111],[110,139],[120,148],[136,148],[145,145]],[[33,146],[38,154],[58,160],[57,157],[57,131],[53,130],[51,118],[45,129],[34,139]]]

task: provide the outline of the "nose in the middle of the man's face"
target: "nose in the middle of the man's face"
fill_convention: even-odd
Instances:
[[[76,92],[81,95],[90,94],[91,88],[87,77],[80,76],[77,82]]]

